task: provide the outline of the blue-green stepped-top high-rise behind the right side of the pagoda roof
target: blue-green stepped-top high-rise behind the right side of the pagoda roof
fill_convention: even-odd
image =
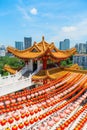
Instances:
[[[64,41],[60,41],[59,43],[60,50],[67,50],[70,48],[70,40],[65,39]]]

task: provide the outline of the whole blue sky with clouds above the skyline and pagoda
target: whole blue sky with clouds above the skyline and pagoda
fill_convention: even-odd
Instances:
[[[69,38],[71,47],[87,41],[87,0],[0,0],[0,44],[14,46],[42,36],[57,47]]]

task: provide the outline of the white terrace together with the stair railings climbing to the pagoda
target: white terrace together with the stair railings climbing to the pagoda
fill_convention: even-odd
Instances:
[[[8,76],[3,76],[0,77],[0,96],[18,91],[22,88],[28,87],[31,85],[31,77],[36,74],[42,66],[40,66],[39,69],[34,71],[32,75],[29,75],[29,78],[26,79],[21,79],[22,75],[29,70],[28,66],[23,67],[19,72],[17,72],[14,75],[8,75]]]

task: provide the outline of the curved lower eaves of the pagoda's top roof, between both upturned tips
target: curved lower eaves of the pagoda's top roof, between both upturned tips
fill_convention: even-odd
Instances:
[[[41,52],[19,51],[12,47],[8,47],[7,50],[8,52],[12,53],[16,57],[23,58],[23,59],[39,58],[41,56],[44,56],[44,54],[49,54],[50,57],[53,57],[55,59],[66,59],[76,52],[75,48],[66,51],[59,50],[57,52],[52,52],[50,48],[47,48],[47,50]]]

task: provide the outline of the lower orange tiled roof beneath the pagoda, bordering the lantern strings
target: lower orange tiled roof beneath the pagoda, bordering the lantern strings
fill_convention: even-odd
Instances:
[[[73,64],[71,67],[68,68],[55,67],[48,70],[40,70],[37,74],[32,76],[32,79],[33,80],[40,80],[40,79],[47,79],[47,78],[57,79],[67,74],[67,72],[87,74],[87,70],[86,71],[81,70],[78,64]]]

